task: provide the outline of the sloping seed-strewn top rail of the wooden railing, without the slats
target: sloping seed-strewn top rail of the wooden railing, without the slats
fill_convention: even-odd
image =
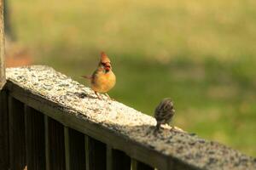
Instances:
[[[253,157],[188,133],[172,132],[168,126],[155,137],[154,118],[116,101],[96,99],[90,88],[49,67],[8,69],[7,77],[9,94],[15,99],[149,166],[162,170],[256,168]],[[85,138],[86,160],[95,154],[87,152],[94,144],[90,141]]]

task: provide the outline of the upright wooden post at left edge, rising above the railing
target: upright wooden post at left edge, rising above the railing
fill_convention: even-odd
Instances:
[[[0,90],[5,83],[3,0],[0,0]]]

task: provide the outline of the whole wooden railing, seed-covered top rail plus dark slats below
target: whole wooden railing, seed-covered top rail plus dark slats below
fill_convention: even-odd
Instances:
[[[0,168],[11,170],[255,169],[256,160],[166,126],[46,66],[7,71]],[[146,97],[145,97],[146,98]]]

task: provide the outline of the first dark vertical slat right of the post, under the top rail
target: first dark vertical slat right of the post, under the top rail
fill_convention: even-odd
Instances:
[[[24,105],[9,96],[9,154],[10,169],[26,168]]]

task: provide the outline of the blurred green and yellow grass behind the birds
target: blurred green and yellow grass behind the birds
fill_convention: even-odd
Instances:
[[[152,115],[170,96],[176,126],[256,156],[254,0],[9,2],[36,63],[86,83],[105,50],[113,98]]]

